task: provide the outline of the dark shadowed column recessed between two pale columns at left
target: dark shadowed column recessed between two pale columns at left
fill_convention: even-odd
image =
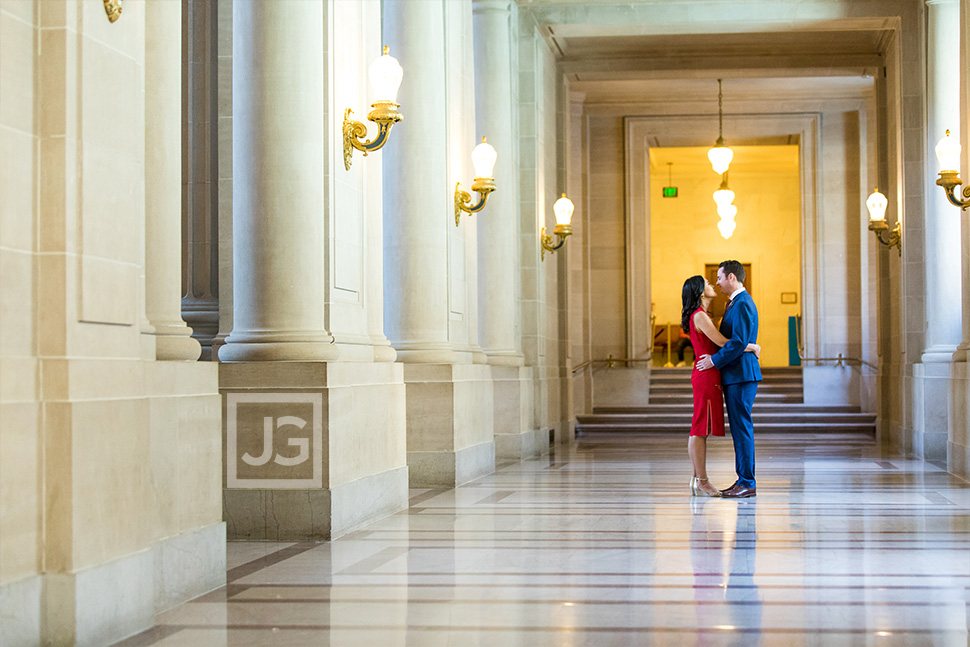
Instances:
[[[182,317],[212,359],[219,332],[217,0],[182,0]]]

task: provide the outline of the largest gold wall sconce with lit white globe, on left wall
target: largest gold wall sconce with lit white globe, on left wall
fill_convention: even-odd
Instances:
[[[371,104],[373,110],[368,113],[367,119],[377,124],[377,135],[370,141],[363,141],[367,136],[367,126],[350,119],[350,114],[353,112],[350,108],[344,111],[344,168],[348,171],[355,148],[367,157],[367,153],[376,151],[387,143],[387,134],[391,131],[391,126],[404,119],[404,116],[397,111],[401,106],[395,103],[397,90],[401,87],[401,79],[404,77],[404,69],[396,58],[387,53],[387,45],[384,46],[384,54],[371,63],[368,76],[377,100]]]

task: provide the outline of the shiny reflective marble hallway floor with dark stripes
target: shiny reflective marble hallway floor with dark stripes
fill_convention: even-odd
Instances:
[[[967,647],[970,484],[864,437],[758,436],[756,499],[686,438],[500,463],[328,543],[231,543],[228,585],[125,647]],[[712,481],[733,482],[730,439]]]

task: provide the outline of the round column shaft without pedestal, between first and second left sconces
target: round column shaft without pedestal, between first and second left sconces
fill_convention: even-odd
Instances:
[[[384,38],[404,68],[405,121],[384,148],[384,322],[402,362],[454,363],[448,336],[444,24],[440,2],[386,0]],[[437,61],[437,63],[434,63]],[[357,164],[370,160],[357,157]],[[452,221],[454,226],[454,221]]]

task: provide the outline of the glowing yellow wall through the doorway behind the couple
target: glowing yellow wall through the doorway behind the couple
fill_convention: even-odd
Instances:
[[[762,366],[788,365],[788,317],[801,308],[801,190],[797,146],[737,146],[729,185],[738,208],[730,239],[717,229],[711,195],[720,176],[706,148],[650,149],[651,293],[657,323],[680,321],[684,280],[704,274],[706,263],[751,263],[758,306]],[[668,166],[673,162],[673,166]],[[679,189],[663,198],[668,170]],[[782,292],[798,303],[782,304]],[[676,361],[676,360],[675,360]]]

